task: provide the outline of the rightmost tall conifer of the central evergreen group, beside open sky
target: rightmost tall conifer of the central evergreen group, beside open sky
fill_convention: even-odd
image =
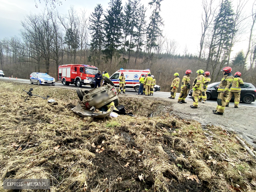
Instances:
[[[162,35],[160,26],[163,25],[162,18],[160,16],[160,3],[163,0],[152,0],[149,2],[150,8],[154,7],[150,16],[150,23],[147,27],[147,49],[151,53],[152,48],[157,47],[157,37]]]

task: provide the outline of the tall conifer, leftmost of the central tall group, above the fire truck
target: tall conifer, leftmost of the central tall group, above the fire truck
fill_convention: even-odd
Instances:
[[[103,13],[102,6],[97,4],[94,8],[94,12],[91,14],[90,22],[91,25],[89,29],[91,30],[92,42],[91,42],[91,50],[92,53],[97,54],[97,63],[100,63],[100,52],[103,46],[104,33],[103,33],[103,19],[101,19]],[[94,62],[95,62],[94,58]]]

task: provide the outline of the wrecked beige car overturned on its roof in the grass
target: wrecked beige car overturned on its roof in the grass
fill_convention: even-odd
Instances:
[[[81,100],[82,104],[84,104],[86,109],[90,111],[82,109],[79,102],[72,110],[82,117],[91,116],[94,118],[104,118],[111,115],[112,112],[114,112],[116,115],[133,116],[131,113],[125,113],[123,105],[118,106],[118,92],[114,86],[114,83],[108,77],[103,77],[103,79],[104,86],[102,87],[89,91],[82,91],[80,88],[76,89],[77,96]],[[96,109],[99,110],[98,113],[94,113]],[[116,117],[115,114],[112,114],[112,116]]]

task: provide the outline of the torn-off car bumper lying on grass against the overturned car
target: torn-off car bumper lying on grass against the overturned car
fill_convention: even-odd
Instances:
[[[114,106],[109,112],[102,111],[102,114],[100,114],[100,113],[92,113],[82,109],[82,106],[80,105],[80,103],[77,102],[77,105],[71,110],[81,117],[93,117],[93,118],[101,119],[109,116],[113,112]]]

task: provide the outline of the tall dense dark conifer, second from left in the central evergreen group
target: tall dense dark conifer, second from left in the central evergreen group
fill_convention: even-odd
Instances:
[[[122,38],[122,2],[121,0],[111,0],[109,3],[109,10],[105,15],[104,29],[105,29],[105,50],[106,57],[112,63],[112,57],[117,52],[118,47],[121,46]]]

